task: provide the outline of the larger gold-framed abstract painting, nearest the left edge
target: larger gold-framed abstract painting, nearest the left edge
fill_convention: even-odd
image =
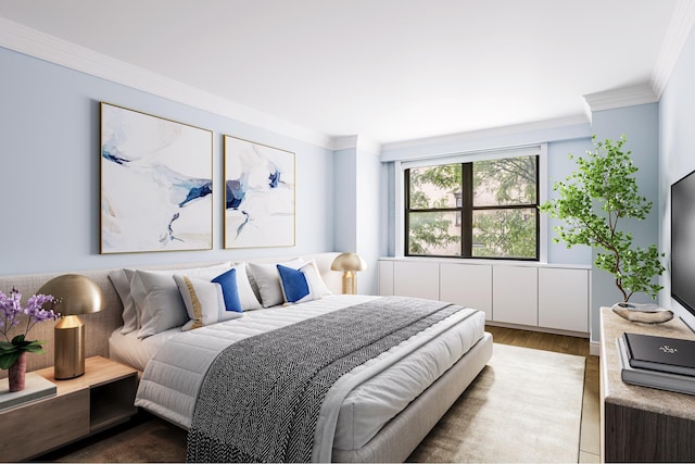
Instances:
[[[211,130],[101,103],[101,253],[213,247]]]

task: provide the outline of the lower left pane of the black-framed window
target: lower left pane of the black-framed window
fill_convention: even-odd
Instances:
[[[453,211],[409,213],[409,254],[460,255],[460,224]]]

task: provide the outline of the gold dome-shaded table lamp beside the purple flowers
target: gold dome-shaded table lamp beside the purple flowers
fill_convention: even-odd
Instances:
[[[39,289],[52,294],[61,313],[55,324],[54,376],[56,379],[79,377],[85,374],[85,324],[78,314],[96,313],[104,309],[104,294],[93,280],[79,274],[55,277]]]

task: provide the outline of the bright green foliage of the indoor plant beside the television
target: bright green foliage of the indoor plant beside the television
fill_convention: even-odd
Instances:
[[[652,202],[639,195],[633,176],[637,167],[630,159],[631,152],[622,151],[624,136],[615,141],[597,142],[595,137],[592,140],[595,149],[587,151],[586,158],[577,159],[578,171],[553,185],[559,198],[542,204],[540,210],[565,222],[555,231],[568,248],[586,244],[604,250],[597,253],[595,264],[615,276],[623,301],[634,292],[656,299],[662,287],[654,277],[665,271],[659,260],[664,254],[659,254],[656,244],[646,249],[633,247],[632,234],[618,229],[622,218],[646,218]]]

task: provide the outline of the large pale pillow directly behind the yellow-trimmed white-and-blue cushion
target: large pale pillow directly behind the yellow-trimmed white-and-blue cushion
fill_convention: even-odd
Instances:
[[[182,326],[188,321],[184,300],[174,281],[174,273],[211,279],[227,269],[229,263],[191,269],[136,271],[130,280],[130,294],[140,322],[138,338]]]

